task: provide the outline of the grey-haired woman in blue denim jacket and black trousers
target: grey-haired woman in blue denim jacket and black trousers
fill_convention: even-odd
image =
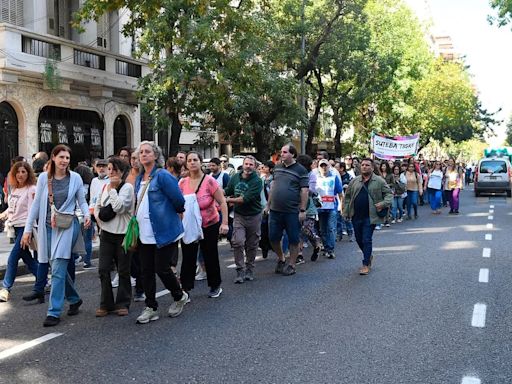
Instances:
[[[154,142],[140,143],[137,154],[140,166],[135,181],[140,233],[138,251],[146,294],[146,308],[137,323],[147,324],[159,318],[155,273],[174,298],[169,316],[179,316],[188,301],[187,293],[181,289],[171,269],[171,261],[177,258],[178,241],[184,233],[179,215],[185,210],[185,199],[178,188],[178,180],[164,169],[162,150]]]

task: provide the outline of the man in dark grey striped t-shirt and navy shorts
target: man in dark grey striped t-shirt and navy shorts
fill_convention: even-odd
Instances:
[[[301,222],[306,217],[308,203],[308,171],[295,161],[297,149],[292,144],[281,148],[281,164],[274,168],[270,195],[265,212],[270,211],[269,239],[277,253],[276,273],[285,276],[295,274],[295,262],[299,254]],[[288,235],[290,260],[285,265],[281,248],[283,231]]]

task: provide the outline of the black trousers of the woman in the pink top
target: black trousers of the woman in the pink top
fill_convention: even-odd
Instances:
[[[220,223],[203,228],[204,238],[199,242],[192,244],[181,243],[183,261],[181,262],[180,279],[181,285],[185,291],[190,291],[194,288],[197,251],[199,247],[201,248],[201,251],[203,251],[208,286],[212,290],[220,287],[222,279],[220,277],[219,249],[217,248],[219,227]]]

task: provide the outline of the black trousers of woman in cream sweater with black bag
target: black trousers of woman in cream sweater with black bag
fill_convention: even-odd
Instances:
[[[118,235],[107,231],[101,231],[100,235],[100,258],[98,262],[98,273],[100,275],[101,296],[100,308],[112,311],[114,309],[129,308],[132,299],[132,286],[130,282],[130,254],[127,254],[123,247],[124,235]],[[112,261],[117,264],[119,273],[119,287],[116,300],[112,292],[110,280],[110,269]]]

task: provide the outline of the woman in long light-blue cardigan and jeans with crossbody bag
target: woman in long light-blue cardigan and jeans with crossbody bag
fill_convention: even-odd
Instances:
[[[68,228],[57,227],[55,213],[51,206],[53,203],[59,212],[74,215],[78,205],[84,215],[84,227],[89,228],[91,225],[82,178],[78,173],[69,170],[70,159],[71,150],[66,145],[59,144],[52,150],[48,171],[39,175],[37,179],[34,203],[30,209],[21,240],[22,247],[28,246],[32,229],[38,220],[38,261],[40,265],[50,263],[52,267],[50,303],[46,320],[43,323],[45,327],[59,324],[64,299],[70,303],[68,316],[78,314],[80,305],[82,305],[82,299],[75,289],[74,280],[68,272],[70,265],[74,267],[74,260],[71,260],[72,250],[80,245],[84,248],[83,238],[80,239],[80,224],[78,218],[74,216]],[[51,193],[49,189],[51,189]],[[47,250],[47,252],[42,250]]]

